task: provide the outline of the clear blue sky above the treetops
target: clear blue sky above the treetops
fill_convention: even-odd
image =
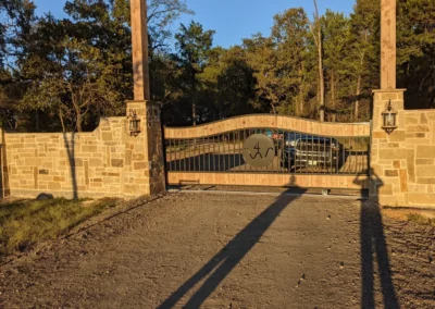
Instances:
[[[35,0],[37,13],[51,11],[54,16],[64,16],[66,0]],[[326,9],[344,12],[352,11],[356,0],[318,0],[320,13]],[[303,7],[310,17],[313,14],[312,0],[187,0],[195,15],[182,16],[174,25],[189,24],[191,20],[203,25],[204,29],[214,29],[214,45],[229,47],[241,42],[243,38],[257,33],[270,35],[273,15],[289,8]]]

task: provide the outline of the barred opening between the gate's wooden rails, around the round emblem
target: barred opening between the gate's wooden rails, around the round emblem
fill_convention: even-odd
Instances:
[[[240,156],[244,140],[254,134],[270,136],[270,133],[275,145],[272,163],[264,168],[250,165]],[[164,139],[164,168],[165,172],[296,173],[308,174],[309,177],[370,175],[372,126],[370,136],[333,137],[318,134],[263,126],[233,129],[215,136]]]

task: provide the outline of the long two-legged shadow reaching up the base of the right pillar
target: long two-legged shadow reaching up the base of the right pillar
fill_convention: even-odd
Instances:
[[[375,308],[374,268],[377,264],[384,308],[400,308],[389,265],[388,248],[384,234],[377,193],[384,186],[382,180],[370,170],[370,186],[376,195],[363,201],[360,212],[361,239],[361,308]]]

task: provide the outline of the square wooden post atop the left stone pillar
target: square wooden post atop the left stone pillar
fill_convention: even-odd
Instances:
[[[149,101],[147,1],[130,0],[130,14],[134,99]]]

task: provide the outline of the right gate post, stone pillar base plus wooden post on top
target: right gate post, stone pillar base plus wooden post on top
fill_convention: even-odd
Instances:
[[[381,90],[373,90],[370,199],[381,205],[408,203],[405,89],[396,89],[396,0],[381,0]],[[387,134],[382,112],[397,111],[397,128]]]

